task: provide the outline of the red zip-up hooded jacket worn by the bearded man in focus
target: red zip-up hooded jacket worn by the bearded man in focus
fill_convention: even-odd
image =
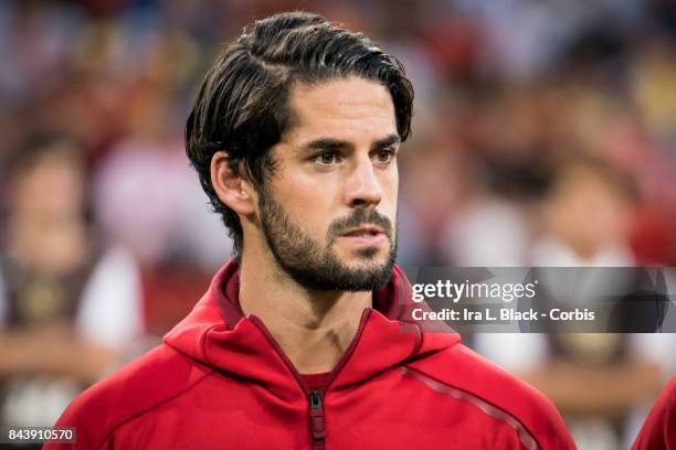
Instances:
[[[76,427],[80,449],[574,448],[536,389],[456,333],[399,320],[413,303],[398,267],[316,390],[242,315],[237,292],[230,262],[163,344],[84,392],[56,426]]]

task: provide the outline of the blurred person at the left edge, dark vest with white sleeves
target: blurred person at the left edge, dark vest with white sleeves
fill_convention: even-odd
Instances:
[[[31,133],[9,154],[0,247],[0,422],[49,426],[142,336],[139,274],[88,219],[84,156]]]

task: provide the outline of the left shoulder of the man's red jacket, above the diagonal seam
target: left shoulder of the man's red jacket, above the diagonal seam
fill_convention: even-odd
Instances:
[[[99,448],[115,429],[180,396],[212,372],[161,344],[83,392],[55,426],[75,427],[78,448]]]

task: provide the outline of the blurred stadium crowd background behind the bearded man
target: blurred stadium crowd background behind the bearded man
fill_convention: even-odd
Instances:
[[[415,86],[401,265],[676,266],[676,2],[0,2],[0,425],[51,425],[160,342],[228,259],[182,129],[221,44],[305,9]],[[473,335],[626,448],[676,335]]]

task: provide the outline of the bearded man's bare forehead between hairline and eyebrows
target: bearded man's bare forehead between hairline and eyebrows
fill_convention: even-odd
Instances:
[[[381,84],[347,78],[296,84],[289,94],[294,116],[286,141],[331,137],[346,141],[377,140],[397,135],[394,105]]]

